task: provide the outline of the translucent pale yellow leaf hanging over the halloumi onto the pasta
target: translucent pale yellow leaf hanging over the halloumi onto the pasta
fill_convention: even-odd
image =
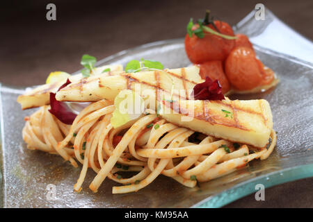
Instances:
[[[122,90],[114,99],[115,110],[111,117],[113,128],[118,128],[128,121],[137,119],[145,111],[143,98],[130,89]]]

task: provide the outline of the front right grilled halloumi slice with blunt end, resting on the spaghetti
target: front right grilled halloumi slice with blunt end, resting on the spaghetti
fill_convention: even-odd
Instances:
[[[273,117],[264,99],[249,101],[160,101],[160,115],[196,132],[256,147],[268,144]]]

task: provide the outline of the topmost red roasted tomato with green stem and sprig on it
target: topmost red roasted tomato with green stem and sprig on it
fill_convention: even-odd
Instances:
[[[218,32],[224,35],[234,36],[232,27],[226,22],[214,21]],[[195,24],[198,26],[198,24]],[[214,31],[217,31],[212,24],[208,25]],[[195,27],[196,28],[196,27]],[[234,48],[235,40],[227,40],[218,35],[204,33],[204,37],[200,38],[194,33],[192,37],[186,34],[185,50],[191,62],[200,64],[211,60],[225,60]]]

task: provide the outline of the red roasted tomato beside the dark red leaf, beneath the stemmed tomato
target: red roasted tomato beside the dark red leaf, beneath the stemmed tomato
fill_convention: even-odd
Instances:
[[[230,82],[227,80],[226,75],[223,70],[223,62],[215,60],[204,62],[200,65],[200,76],[205,79],[205,77],[209,76],[211,80],[218,80],[220,85],[222,86],[222,93],[225,94],[230,90]]]

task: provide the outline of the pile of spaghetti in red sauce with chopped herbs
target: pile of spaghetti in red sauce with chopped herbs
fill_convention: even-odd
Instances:
[[[113,194],[129,193],[146,187],[163,174],[186,187],[195,187],[248,165],[264,160],[276,144],[271,131],[264,148],[237,144],[196,133],[161,119],[157,114],[143,114],[119,128],[111,126],[115,110],[109,100],[90,103],[72,125],[58,120],[49,105],[26,117],[22,135],[28,148],[61,155],[74,167],[83,167],[75,191],[80,191],[88,167],[97,176],[90,189],[97,191],[106,178],[119,182]],[[122,178],[120,171],[136,172]]]

